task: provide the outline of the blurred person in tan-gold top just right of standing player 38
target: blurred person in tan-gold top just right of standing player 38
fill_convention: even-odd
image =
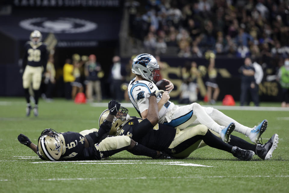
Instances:
[[[44,84],[46,85],[46,91],[42,94],[42,98],[46,101],[52,100],[52,93],[55,88],[55,68],[54,68],[54,58],[53,55],[49,56],[47,65],[46,65],[46,72],[44,74]]]

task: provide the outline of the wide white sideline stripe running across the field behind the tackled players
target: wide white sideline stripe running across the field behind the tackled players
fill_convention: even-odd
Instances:
[[[178,106],[184,106],[177,104]],[[93,107],[107,107],[107,103],[91,103]],[[121,103],[121,106],[126,108],[133,108],[132,103]],[[289,107],[270,107],[270,106],[210,106],[202,105],[204,107],[213,107],[219,110],[243,110],[243,111],[289,111]]]

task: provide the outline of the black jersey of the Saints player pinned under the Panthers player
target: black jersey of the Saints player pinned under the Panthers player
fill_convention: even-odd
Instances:
[[[166,150],[176,135],[176,129],[163,124],[151,125],[148,119],[133,118],[121,128],[120,135],[126,135],[134,141],[153,150]]]

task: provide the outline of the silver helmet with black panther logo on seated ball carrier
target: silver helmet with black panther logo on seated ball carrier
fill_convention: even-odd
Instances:
[[[157,82],[160,75],[155,70],[158,69],[159,65],[153,55],[140,54],[132,60],[132,73],[141,75],[147,81]]]

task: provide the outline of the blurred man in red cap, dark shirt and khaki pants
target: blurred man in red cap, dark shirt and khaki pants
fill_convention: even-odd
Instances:
[[[101,102],[101,82],[100,78],[104,76],[101,70],[101,65],[96,62],[96,56],[94,54],[89,55],[89,61],[85,63],[85,78],[87,81],[86,85],[86,96],[89,102],[93,102],[93,91],[95,91],[97,102]]]

